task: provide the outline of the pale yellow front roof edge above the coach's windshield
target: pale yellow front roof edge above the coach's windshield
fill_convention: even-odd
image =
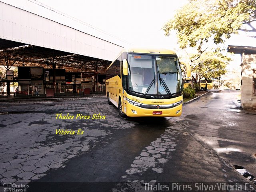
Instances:
[[[130,52],[130,53],[147,53],[147,54],[171,54],[176,55],[176,53],[172,50],[168,49],[157,49],[157,48],[124,48],[121,51],[123,52]]]

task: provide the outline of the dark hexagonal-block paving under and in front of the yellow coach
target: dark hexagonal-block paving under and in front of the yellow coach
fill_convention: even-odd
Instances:
[[[159,182],[246,182],[230,159],[203,139],[204,129],[222,130],[191,120],[189,109],[197,101],[184,105],[179,118],[126,119],[105,96],[1,102],[0,182],[54,192],[144,191],[145,183]],[[218,112],[222,116],[223,109]],[[59,113],[90,119],[56,119]],[[105,119],[92,119],[93,114]],[[56,134],[59,129],[75,134]]]

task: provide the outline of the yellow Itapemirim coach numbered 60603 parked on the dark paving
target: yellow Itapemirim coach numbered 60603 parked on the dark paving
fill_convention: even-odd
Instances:
[[[120,116],[180,116],[182,74],[171,50],[124,49],[106,71],[106,97]],[[187,75],[191,67],[186,65]]]

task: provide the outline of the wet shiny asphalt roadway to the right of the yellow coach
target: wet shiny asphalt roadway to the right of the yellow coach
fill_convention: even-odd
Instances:
[[[256,112],[240,108],[239,95],[233,90],[210,92],[185,104],[181,119],[196,140],[256,176]]]

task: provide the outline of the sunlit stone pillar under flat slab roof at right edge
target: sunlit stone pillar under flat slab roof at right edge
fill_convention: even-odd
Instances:
[[[254,78],[256,78],[256,54],[243,53],[241,107],[244,109],[256,109]]]

